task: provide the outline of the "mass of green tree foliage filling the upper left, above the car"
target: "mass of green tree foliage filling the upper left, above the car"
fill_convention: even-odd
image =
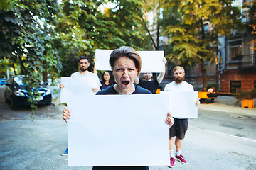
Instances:
[[[115,6],[102,11],[107,2]],[[48,74],[70,76],[78,70],[78,57],[87,55],[92,61],[97,48],[128,45],[142,50],[149,39],[141,5],[139,0],[2,0],[1,64],[28,76],[32,92],[42,74],[43,81]]]

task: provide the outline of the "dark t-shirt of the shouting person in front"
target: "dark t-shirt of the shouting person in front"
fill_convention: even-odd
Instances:
[[[151,92],[147,89],[144,89],[140,86],[134,84],[135,91],[132,94],[151,94]],[[103,89],[98,91],[96,95],[105,95],[105,94],[119,94],[114,89],[114,85],[107,87],[107,89]],[[94,166],[92,170],[149,170],[148,166]]]

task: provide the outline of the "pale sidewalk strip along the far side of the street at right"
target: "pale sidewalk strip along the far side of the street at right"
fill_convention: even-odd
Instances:
[[[201,103],[198,109],[238,113],[256,117],[256,108],[241,108],[241,103],[235,106],[235,102],[236,99],[233,96],[218,96],[214,99],[213,103]]]

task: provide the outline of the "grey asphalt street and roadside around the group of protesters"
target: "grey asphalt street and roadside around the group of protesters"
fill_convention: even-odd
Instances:
[[[64,106],[58,100],[38,106],[33,119],[29,108],[13,111],[3,96],[0,86],[0,169],[92,169],[69,167],[68,156],[60,156],[68,143]],[[256,169],[256,108],[234,104],[233,97],[218,96],[215,103],[199,106],[198,118],[188,120],[183,141],[188,164],[176,162],[172,169]]]

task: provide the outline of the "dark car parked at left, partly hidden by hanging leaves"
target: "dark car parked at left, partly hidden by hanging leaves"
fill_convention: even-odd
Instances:
[[[6,83],[6,89],[4,91],[4,98],[6,102],[11,103],[11,108],[16,106],[28,106],[28,92],[26,91],[26,84],[24,84],[24,76],[14,76]],[[52,101],[52,95],[50,89],[46,88],[43,84],[38,84],[38,98],[36,98],[37,104],[50,104]]]

